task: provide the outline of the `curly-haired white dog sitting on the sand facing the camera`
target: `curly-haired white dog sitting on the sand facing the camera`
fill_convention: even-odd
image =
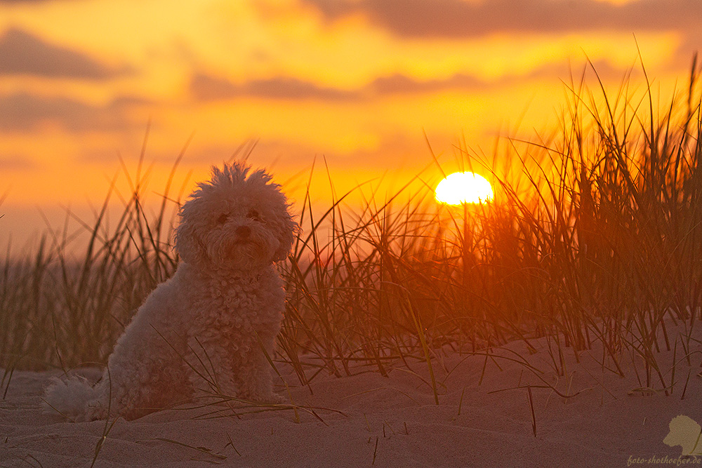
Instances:
[[[55,378],[46,410],[74,420],[135,419],[194,396],[282,401],[272,355],[285,292],[273,262],[295,231],[286,197],[264,171],[213,168],[180,208],[180,265],[138,309],[97,385]]]

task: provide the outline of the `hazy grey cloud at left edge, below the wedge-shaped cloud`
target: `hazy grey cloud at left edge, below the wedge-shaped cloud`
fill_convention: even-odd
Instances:
[[[119,98],[109,105],[93,106],[69,98],[44,98],[27,93],[0,96],[0,128],[28,132],[55,125],[67,131],[114,131],[131,128],[127,109],[144,103]]]

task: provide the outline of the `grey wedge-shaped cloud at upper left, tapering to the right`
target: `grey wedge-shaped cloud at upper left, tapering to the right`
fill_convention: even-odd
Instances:
[[[20,29],[8,29],[0,38],[0,58],[0,74],[104,80],[127,72],[69,48],[47,44]]]

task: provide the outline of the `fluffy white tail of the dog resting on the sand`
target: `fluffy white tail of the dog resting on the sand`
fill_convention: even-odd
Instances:
[[[101,387],[91,385],[80,375],[72,375],[67,380],[53,377],[44,393],[44,412],[58,412],[71,420],[85,421],[88,419],[88,403],[94,406],[98,402]]]

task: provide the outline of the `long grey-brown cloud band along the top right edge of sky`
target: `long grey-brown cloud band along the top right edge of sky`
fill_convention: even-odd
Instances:
[[[702,25],[702,1],[639,0],[302,0],[328,20],[362,13],[376,25],[408,37],[465,38],[496,32],[640,32]]]

